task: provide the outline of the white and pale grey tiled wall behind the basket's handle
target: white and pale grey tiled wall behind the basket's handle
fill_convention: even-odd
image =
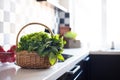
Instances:
[[[54,14],[54,7],[46,2],[0,0],[0,45],[15,44],[18,31],[31,22],[43,23],[52,29]]]

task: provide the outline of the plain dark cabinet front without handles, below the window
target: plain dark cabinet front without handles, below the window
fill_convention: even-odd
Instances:
[[[120,80],[120,55],[90,55],[90,80]]]

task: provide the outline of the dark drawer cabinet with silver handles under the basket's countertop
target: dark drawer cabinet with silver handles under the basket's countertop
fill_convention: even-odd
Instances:
[[[57,80],[88,80],[89,57],[84,58]]]

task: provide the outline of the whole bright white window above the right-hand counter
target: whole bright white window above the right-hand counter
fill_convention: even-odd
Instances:
[[[110,49],[120,44],[119,0],[72,0],[71,28],[91,50]]]

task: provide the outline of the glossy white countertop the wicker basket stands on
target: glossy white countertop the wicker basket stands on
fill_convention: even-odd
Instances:
[[[65,49],[63,53],[73,56],[49,69],[23,69],[14,63],[0,63],[0,80],[56,80],[89,54],[82,48]]]

